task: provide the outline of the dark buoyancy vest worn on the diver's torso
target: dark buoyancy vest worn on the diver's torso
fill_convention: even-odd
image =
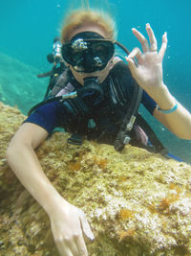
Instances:
[[[81,144],[82,137],[86,136],[99,143],[115,144],[118,130],[131,105],[136,82],[133,80],[128,66],[123,61],[117,60],[116,62],[106,80],[101,84],[104,90],[104,99],[99,105],[93,105],[92,98],[86,100],[67,99],[61,103],[71,116],[64,127],[73,133],[68,140],[69,143]],[[54,75],[51,77],[51,89],[46,95],[47,98],[71,93],[81,86],[75,81],[69,68],[64,68],[61,71],[61,74],[55,73],[54,85]],[[132,145],[149,151],[166,153],[166,149],[161,145],[152,128],[138,113],[130,137]]]

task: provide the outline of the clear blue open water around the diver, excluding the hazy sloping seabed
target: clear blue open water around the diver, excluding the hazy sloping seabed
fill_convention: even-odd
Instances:
[[[72,3],[71,3],[72,2]],[[52,52],[53,37],[59,35],[63,14],[68,6],[80,1],[60,0],[11,0],[2,1],[0,10],[0,53],[16,58],[39,71],[51,68],[47,54]],[[136,27],[145,34],[149,22],[156,37],[166,31],[168,48],[164,57],[164,81],[171,93],[191,111],[191,2],[188,0],[108,0],[94,1],[97,6],[115,15],[118,40],[130,50],[139,46],[131,32]],[[109,3],[109,4],[105,4]],[[22,110],[22,109],[21,109]],[[147,117],[160,139],[183,160],[191,162],[191,142],[177,139],[166,129]]]

